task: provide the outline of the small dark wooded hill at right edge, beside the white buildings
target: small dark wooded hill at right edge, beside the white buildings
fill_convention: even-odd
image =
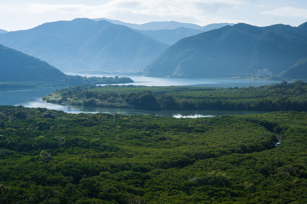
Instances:
[[[283,78],[307,79],[307,57],[298,60],[289,69],[280,74]]]

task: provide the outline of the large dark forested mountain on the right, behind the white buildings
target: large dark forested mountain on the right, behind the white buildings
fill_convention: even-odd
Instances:
[[[155,76],[222,77],[268,68],[280,74],[307,56],[307,24],[244,23],[179,40],[145,69]]]

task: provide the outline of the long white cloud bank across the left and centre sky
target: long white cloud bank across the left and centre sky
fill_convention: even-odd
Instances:
[[[42,16],[66,16],[67,18],[111,18],[125,22],[145,23],[148,21],[181,21],[194,22],[202,25],[221,23],[223,18],[210,18],[221,7],[237,7],[250,0],[109,0],[92,6],[87,4],[41,4],[31,3],[10,7],[22,12]],[[7,6],[2,5],[3,8]],[[214,9],[213,9],[214,8]],[[1,10],[1,4],[0,4]],[[0,11],[1,12],[1,11]],[[59,15],[58,15],[59,14]],[[213,14],[214,15],[214,14]],[[211,16],[212,17],[212,16]],[[241,20],[227,19],[230,23]]]

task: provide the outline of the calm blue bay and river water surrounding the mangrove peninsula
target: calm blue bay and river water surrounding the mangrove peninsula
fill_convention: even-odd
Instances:
[[[73,74],[73,73],[66,73]],[[78,74],[87,77],[113,77],[115,75],[103,74]],[[243,87],[243,86],[261,86],[280,83],[280,81],[249,81],[249,80],[233,80],[233,79],[184,79],[184,78],[167,78],[167,77],[144,77],[134,75],[120,75],[122,77],[130,77],[135,81],[134,85],[147,85],[147,86],[169,86],[169,85],[192,85],[192,86],[214,86],[214,87]],[[289,81],[290,82],[290,81]],[[103,107],[84,107],[69,104],[52,104],[42,101],[41,96],[52,93],[56,89],[65,87],[48,87],[48,88],[15,88],[15,89],[0,89],[0,105],[23,105],[25,107],[37,108],[43,107],[54,110],[62,110],[68,113],[111,113],[111,114],[127,114],[127,115],[157,115],[169,117],[213,117],[223,114],[251,114],[251,113],[264,113],[264,111],[146,111],[130,108],[103,108]]]

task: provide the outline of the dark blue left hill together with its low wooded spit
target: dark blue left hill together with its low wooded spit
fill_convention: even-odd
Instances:
[[[66,75],[47,62],[0,45],[0,88],[131,83],[128,77]]]

